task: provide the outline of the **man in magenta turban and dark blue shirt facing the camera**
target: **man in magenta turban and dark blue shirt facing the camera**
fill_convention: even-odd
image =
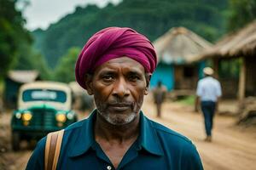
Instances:
[[[131,28],[109,27],[90,37],[75,74],[94,95],[96,110],[64,130],[56,169],[203,169],[189,139],[141,111],[156,63],[151,42]],[[44,151],[51,152],[47,139],[38,142],[27,169],[52,166],[44,160]]]

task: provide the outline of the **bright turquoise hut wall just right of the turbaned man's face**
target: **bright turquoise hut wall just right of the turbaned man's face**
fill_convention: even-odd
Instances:
[[[157,82],[162,82],[168,91],[173,89],[174,86],[174,75],[173,75],[173,66],[159,64],[154,71],[154,74],[151,77],[150,88],[154,88],[157,85]]]

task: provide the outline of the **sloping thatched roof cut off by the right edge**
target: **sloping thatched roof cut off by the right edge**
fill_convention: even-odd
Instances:
[[[198,59],[212,57],[241,57],[256,55],[256,20],[239,31],[222,38]]]

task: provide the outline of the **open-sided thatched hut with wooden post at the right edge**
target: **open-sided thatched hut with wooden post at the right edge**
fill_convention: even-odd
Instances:
[[[241,102],[249,96],[256,96],[256,20],[240,31],[225,36],[197,59],[212,59],[215,77],[223,85],[224,97],[233,97]],[[219,71],[223,62],[239,59],[240,72],[236,79],[222,77]]]

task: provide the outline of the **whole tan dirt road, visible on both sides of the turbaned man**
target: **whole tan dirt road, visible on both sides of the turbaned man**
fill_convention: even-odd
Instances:
[[[203,141],[204,127],[200,113],[177,103],[164,105],[162,118],[155,118],[154,105],[146,99],[143,111],[147,116],[189,137],[200,152],[206,170],[256,169],[256,128],[236,127],[230,116],[216,116],[212,143]],[[10,148],[10,114],[0,115],[0,169],[24,169],[32,151]]]

